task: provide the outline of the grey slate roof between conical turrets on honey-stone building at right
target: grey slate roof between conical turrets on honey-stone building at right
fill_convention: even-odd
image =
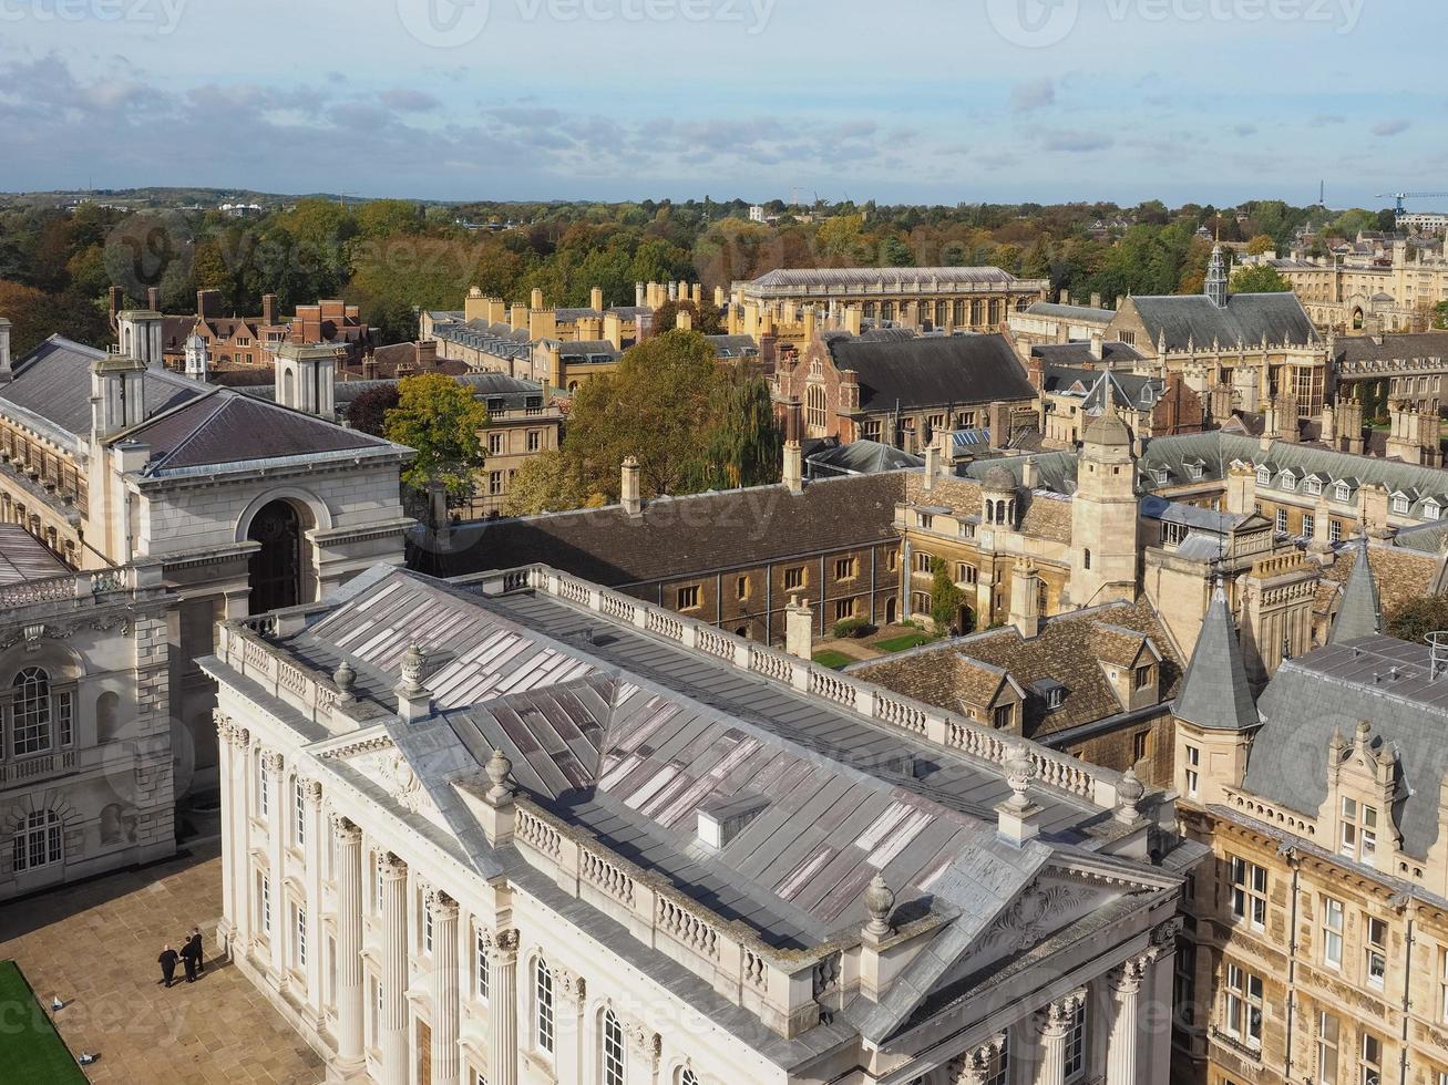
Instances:
[[[1390,677],[1394,667],[1397,678]],[[1448,680],[1431,678],[1426,645],[1392,637],[1328,645],[1283,663],[1257,706],[1264,723],[1244,790],[1318,814],[1328,797],[1334,732],[1351,742],[1358,722],[1370,720],[1374,746],[1389,744],[1399,755],[1394,816],[1403,851],[1428,856],[1438,839],[1439,784],[1448,773]]]

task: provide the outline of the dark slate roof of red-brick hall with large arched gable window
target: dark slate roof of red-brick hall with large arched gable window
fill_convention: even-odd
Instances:
[[[830,339],[837,369],[860,376],[860,409],[893,411],[1035,396],[1003,336],[941,336],[896,341]]]

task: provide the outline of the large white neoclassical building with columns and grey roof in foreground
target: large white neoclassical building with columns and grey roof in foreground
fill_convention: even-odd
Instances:
[[[223,937],[334,1076],[1166,1079],[1200,849],[1131,775],[537,566],[206,667]]]

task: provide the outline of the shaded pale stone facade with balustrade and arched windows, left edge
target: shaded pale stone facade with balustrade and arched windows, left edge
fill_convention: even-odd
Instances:
[[[175,851],[174,602],[159,566],[77,573],[0,524],[0,900]]]

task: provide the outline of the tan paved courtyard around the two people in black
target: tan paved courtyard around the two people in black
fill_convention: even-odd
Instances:
[[[323,1081],[316,1053],[226,962],[195,984],[159,982],[165,942],[200,926],[207,955],[216,948],[217,846],[0,907],[0,959],[19,961],[42,1003],[67,1001],[55,1024],[74,1053],[100,1053],[93,1082]]]

